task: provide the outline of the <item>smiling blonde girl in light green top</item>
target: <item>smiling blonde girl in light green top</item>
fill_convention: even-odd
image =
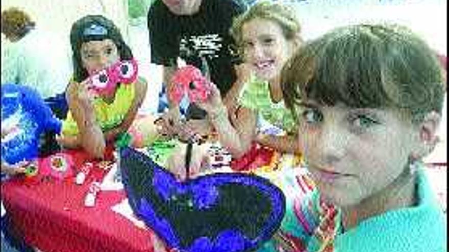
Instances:
[[[236,158],[245,154],[254,141],[280,152],[297,152],[291,136],[264,134],[258,132],[257,126],[262,119],[271,124],[289,120],[284,116],[287,110],[282,102],[279,74],[301,44],[300,24],[285,6],[260,2],[234,20],[231,33],[244,63],[240,66],[240,81],[230,91],[234,95],[227,97],[236,97],[243,90],[239,105],[230,109],[228,117],[215,88],[210,99],[198,105],[208,112],[220,143]]]

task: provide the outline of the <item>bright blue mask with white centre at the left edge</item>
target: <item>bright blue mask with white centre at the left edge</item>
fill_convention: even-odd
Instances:
[[[2,160],[14,164],[38,156],[39,136],[61,131],[61,122],[30,87],[2,84]]]

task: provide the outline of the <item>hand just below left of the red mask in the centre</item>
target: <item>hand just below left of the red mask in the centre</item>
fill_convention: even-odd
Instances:
[[[172,107],[160,118],[156,119],[155,125],[161,136],[168,138],[178,135],[180,129],[181,114],[179,107]]]

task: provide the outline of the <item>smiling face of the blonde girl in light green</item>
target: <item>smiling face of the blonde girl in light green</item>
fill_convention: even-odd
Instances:
[[[243,53],[246,63],[260,78],[275,78],[294,49],[281,26],[268,19],[255,18],[242,26]]]

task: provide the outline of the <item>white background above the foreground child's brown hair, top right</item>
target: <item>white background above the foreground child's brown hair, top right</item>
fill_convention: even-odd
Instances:
[[[303,35],[314,38],[329,29],[361,21],[389,21],[407,25],[437,51],[446,54],[446,0],[290,0],[303,25]]]

